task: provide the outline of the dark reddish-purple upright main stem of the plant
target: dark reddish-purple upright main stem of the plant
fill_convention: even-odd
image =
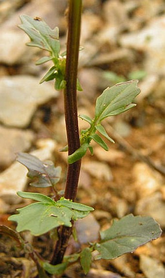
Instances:
[[[80,136],[77,114],[77,68],[79,58],[79,43],[81,31],[82,0],[69,1],[68,36],[66,55],[66,89],[64,91],[64,107],[68,155],[80,147]],[[77,193],[81,160],[68,164],[65,198],[74,201]],[[52,264],[62,262],[72,228],[65,226],[58,229]]]

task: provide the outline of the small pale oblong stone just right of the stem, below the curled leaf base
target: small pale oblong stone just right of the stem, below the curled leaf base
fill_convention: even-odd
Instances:
[[[84,162],[82,164],[82,169],[92,175],[94,178],[99,180],[112,180],[113,176],[111,169],[108,164],[103,162]]]

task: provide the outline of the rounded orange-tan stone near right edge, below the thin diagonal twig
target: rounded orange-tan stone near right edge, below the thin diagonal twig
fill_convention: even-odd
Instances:
[[[139,197],[151,195],[161,187],[160,175],[142,162],[138,162],[132,169],[134,188]]]

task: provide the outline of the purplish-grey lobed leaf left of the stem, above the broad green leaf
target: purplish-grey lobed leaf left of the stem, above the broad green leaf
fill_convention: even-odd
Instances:
[[[28,153],[18,153],[17,161],[25,165],[29,172],[27,176],[34,179],[30,184],[34,187],[54,186],[61,175],[61,167],[54,167],[52,162],[41,162],[37,157]]]

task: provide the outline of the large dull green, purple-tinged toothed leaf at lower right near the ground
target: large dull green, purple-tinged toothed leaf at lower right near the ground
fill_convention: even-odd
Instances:
[[[122,254],[133,252],[138,246],[157,239],[162,230],[152,217],[129,214],[115,220],[112,226],[100,232],[101,242],[95,249],[102,259],[115,259]]]

